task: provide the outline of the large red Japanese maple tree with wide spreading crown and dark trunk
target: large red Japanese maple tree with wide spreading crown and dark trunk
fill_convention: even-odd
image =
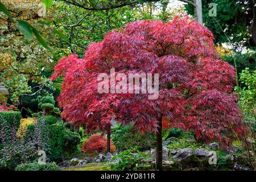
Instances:
[[[162,169],[162,120],[191,129],[197,138],[229,142],[222,131],[241,133],[232,96],[234,68],[218,60],[213,35],[188,16],[172,22],[137,20],[88,46],[83,58],[63,57],[52,80],[63,76],[62,117],[86,130],[110,132],[111,119],[156,133],[156,167]],[[98,93],[100,73],[159,73],[159,97]]]

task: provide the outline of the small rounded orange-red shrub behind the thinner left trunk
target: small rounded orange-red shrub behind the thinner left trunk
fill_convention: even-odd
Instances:
[[[82,151],[86,153],[93,152],[106,152],[107,149],[107,137],[101,134],[94,134],[90,136],[85,142],[82,144]],[[115,151],[115,146],[112,140],[110,141],[110,151]]]

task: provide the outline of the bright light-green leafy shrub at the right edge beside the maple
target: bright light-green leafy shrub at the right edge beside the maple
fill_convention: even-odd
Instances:
[[[242,88],[236,87],[240,108],[246,120],[255,122],[256,108],[256,70],[245,68],[240,74]]]

